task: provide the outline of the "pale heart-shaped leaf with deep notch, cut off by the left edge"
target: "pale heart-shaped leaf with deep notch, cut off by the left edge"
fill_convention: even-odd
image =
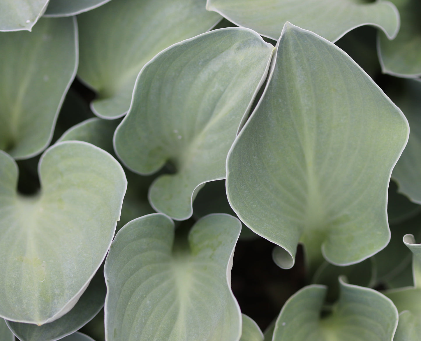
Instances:
[[[0,316],[42,325],[85,291],[114,236],[127,186],[107,152],[80,141],[41,157],[41,191],[16,192],[18,169],[0,152]]]

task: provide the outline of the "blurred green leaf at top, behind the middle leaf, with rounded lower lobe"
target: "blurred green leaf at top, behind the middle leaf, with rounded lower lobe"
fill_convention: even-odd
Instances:
[[[103,118],[123,116],[142,67],[220,19],[205,10],[204,0],[118,0],[78,16],[78,75],[98,93],[93,112]]]

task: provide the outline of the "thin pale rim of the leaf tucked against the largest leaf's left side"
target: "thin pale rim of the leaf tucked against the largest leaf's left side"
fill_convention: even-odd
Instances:
[[[222,20],[222,19],[221,19]],[[200,36],[203,36],[203,35],[209,35],[209,34],[212,34],[212,32],[217,32],[217,31],[226,31],[226,30],[232,30],[232,29],[241,29],[241,30],[247,30],[247,31],[249,31],[249,32],[251,32],[251,33],[253,33],[253,35],[256,35],[257,37],[259,37],[260,39],[262,39],[259,35],[258,35],[258,33],[256,33],[255,31],[253,31],[252,29],[248,29],[248,28],[239,28],[239,27],[225,27],[225,28],[221,28],[221,29],[215,29],[215,30],[212,30],[212,31],[208,31],[208,32],[205,32],[205,33],[202,33]],[[197,36],[196,36],[197,37]],[[140,76],[141,76],[141,73],[143,72],[143,70],[144,70],[144,68],[146,68],[150,63],[152,63],[153,61],[155,61],[155,59],[157,59],[161,54],[163,54],[163,53],[165,53],[167,50],[169,50],[169,49],[171,49],[171,48],[173,48],[173,47],[175,47],[175,46],[178,46],[178,45],[182,45],[182,44],[184,44],[184,43],[187,43],[187,42],[190,42],[190,41],[192,41],[192,40],[195,40],[196,39],[196,37],[192,37],[192,38],[189,38],[189,39],[185,39],[185,40],[182,40],[181,42],[179,42],[179,43],[175,43],[175,44],[173,44],[173,45],[171,45],[171,46],[168,46],[168,48],[165,48],[163,51],[161,51],[160,53],[158,53],[154,58],[152,58],[150,61],[148,61],[145,65],[144,65],[144,67],[142,67],[142,69],[140,70],[140,72],[139,72],[139,74],[137,75],[137,78],[136,78],[136,83],[135,83],[135,85],[134,85],[134,88],[133,88],[133,93],[132,93],[132,99],[131,99],[131,103],[130,103],[130,107],[129,107],[129,109],[128,109],[128,111],[127,112],[130,112],[131,111],[131,109],[132,109],[132,106],[133,106],[133,98],[134,98],[134,94],[135,94],[135,92],[136,92],[136,88],[137,88],[137,85],[138,85],[138,82],[139,82],[139,79],[140,79]],[[266,44],[269,44],[269,43],[266,43]],[[252,95],[252,97],[251,97],[251,99],[250,99],[250,102],[249,102],[249,104],[248,104],[248,106],[247,106],[247,109],[245,110],[245,113],[244,113],[244,115],[243,115],[243,117],[242,117],[242,119],[240,120],[240,125],[238,126],[238,128],[237,128],[237,137],[238,137],[238,134],[240,133],[240,131],[242,130],[242,128],[244,127],[244,125],[245,125],[245,123],[247,122],[247,120],[251,117],[249,117],[249,113],[250,113],[250,109],[251,109],[251,107],[253,106],[253,102],[254,102],[254,100],[256,99],[256,96],[257,96],[257,94],[258,94],[258,92],[260,91],[260,89],[261,89],[261,87],[262,87],[262,85],[266,82],[266,80],[269,82],[269,80],[270,80],[270,78],[267,78],[267,75],[268,75],[268,73],[269,73],[269,69],[271,69],[271,63],[273,62],[273,60],[274,59],[276,59],[276,58],[274,58],[274,53],[275,53],[275,51],[276,51],[276,48],[277,48],[277,46],[273,49],[273,51],[272,51],[272,56],[271,56],[271,58],[269,58],[269,61],[268,61],[268,63],[267,63],[267,65],[266,65],[266,69],[265,69],[265,71],[264,71],[264,74],[262,75],[262,77],[261,77],[261,79],[260,79],[260,81],[259,81],[259,83],[258,83],[258,85],[257,85],[257,88],[256,88],[256,90],[254,91],[254,93],[253,93],[253,95]],[[269,76],[270,77],[270,76]],[[262,97],[263,97],[263,95],[262,95]],[[259,103],[260,103],[260,100],[259,100]],[[257,108],[257,107],[256,107]],[[92,108],[91,108],[92,109]],[[118,159],[120,160],[120,162],[126,167],[126,168],[128,168],[129,170],[131,170],[133,173],[136,173],[136,174],[139,174],[139,175],[141,175],[141,176],[149,176],[149,175],[152,175],[152,174],[155,174],[155,173],[157,173],[159,170],[157,170],[157,171],[153,171],[153,172],[150,172],[150,173],[141,173],[141,172],[139,172],[139,171],[137,171],[137,170],[134,170],[133,168],[131,168],[131,167],[129,167],[125,162],[124,162],[124,160],[122,160],[121,159],[121,157],[120,157],[120,155],[118,155],[118,153],[117,153],[117,147],[116,147],[116,136],[117,136],[117,130],[120,128],[120,125],[123,125],[123,123],[125,122],[125,120],[126,120],[126,117],[128,117],[127,115],[125,115],[125,117],[123,118],[123,121],[121,121],[120,122],[120,124],[117,126],[117,128],[116,128],[116,130],[115,130],[115,132],[114,132],[114,136],[113,136],[113,139],[112,139],[112,145],[113,145],[113,147],[114,147],[114,152],[115,152],[115,154],[117,155],[117,157],[118,157]],[[235,143],[235,142],[234,142]],[[233,146],[233,145],[232,145]],[[231,149],[232,149],[232,146],[231,146]],[[227,154],[227,158],[226,158],[226,160],[228,160],[228,155],[229,155],[229,153],[231,152],[231,149],[229,149],[229,152],[228,152],[228,154]],[[198,184],[196,187],[195,187],[195,189],[193,190],[193,192],[192,192],[192,196],[191,196],[191,199],[190,199],[190,213],[189,213],[189,216],[187,217],[187,218],[178,218],[178,219],[176,219],[176,218],[173,218],[173,220],[175,220],[175,221],[184,221],[184,220],[186,220],[186,219],[188,219],[188,218],[190,218],[192,215],[193,215],[193,201],[195,200],[195,198],[196,198],[196,196],[197,196],[197,193],[200,191],[200,189],[202,189],[202,187],[203,186],[205,186],[205,184],[206,183],[208,183],[208,182],[211,182],[211,181],[216,181],[216,180],[224,180],[224,179],[226,179],[226,174],[227,174],[227,170],[226,170],[226,172],[225,172],[225,176],[224,177],[217,177],[217,178],[213,178],[213,179],[210,179],[210,180],[208,180],[208,181],[203,181],[203,182],[201,182],[200,184]],[[156,210],[156,211],[158,211],[157,210],[157,208],[153,205],[153,203],[152,203],[152,201],[151,201],[151,199],[150,199],[150,189],[152,188],[152,186],[155,184],[155,182],[158,180],[158,178],[156,178],[153,182],[152,182],[152,184],[149,186],[149,191],[148,191],[148,201],[149,201],[149,204],[152,206],[152,208],[154,209],[154,210]],[[231,202],[230,202],[230,205],[231,205]],[[163,214],[165,214],[165,213],[163,213]]]

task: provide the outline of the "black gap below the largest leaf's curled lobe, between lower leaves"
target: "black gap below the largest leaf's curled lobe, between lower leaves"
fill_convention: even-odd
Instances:
[[[241,311],[262,330],[277,317],[285,301],[306,285],[301,245],[298,245],[296,264],[289,270],[273,262],[273,246],[261,237],[239,240],[231,272],[232,291]]]

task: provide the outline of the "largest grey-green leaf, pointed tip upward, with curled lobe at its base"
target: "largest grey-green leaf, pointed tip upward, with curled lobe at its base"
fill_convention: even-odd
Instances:
[[[227,159],[238,217],[294,264],[358,263],[384,248],[390,173],[408,139],[402,112],[336,45],[285,24],[265,92]]]

